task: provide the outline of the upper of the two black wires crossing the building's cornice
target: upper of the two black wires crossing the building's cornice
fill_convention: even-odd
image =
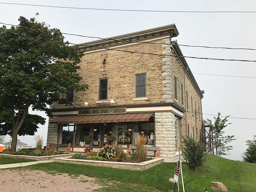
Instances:
[[[34,30],[39,30],[39,31],[46,31],[46,30],[43,30],[43,29],[35,29],[35,28],[30,28],[30,27],[13,25],[13,24],[9,24],[9,23],[2,23],[2,22],[0,22],[0,23],[3,24],[3,25],[11,25],[11,26],[16,26],[16,27],[21,27],[21,28],[28,28],[28,29],[34,29]],[[128,40],[118,40],[118,39],[102,38],[102,37],[95,37],[95,36],[84,36],[84,35],[70,34],[70,33],[63,33],[63,32],[53,32],[53,31],[52,31],[52,33],[60,33],[60,34],[65,34],[65,35],[88,37],[88,38],[97,38],[97,39],[102,39],[102,40],[114,40],[114,41],[128,42],[128,43],[162,44],[162,45],[172,45],[172,46],[203,47],[203,48],[213,48],[213,49],[256,50],[256,49],[252,49],[252,48],[211,47],[211,46],[201,46],[201,45],[153,43],[153,42],[147,42],[147,41],[128,41]]]

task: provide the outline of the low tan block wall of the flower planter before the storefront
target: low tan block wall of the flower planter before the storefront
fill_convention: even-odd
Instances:
[[[71,158],[71,156],[59,157],[59,158],[54,158],[54,159],[56,162],[61,162],[61,163],[85,164],[85,165],[112,167],[112,168],[117,168],[117,169],[130,169],[130,170],[139,170],[139,171],[144,171],[146,169],[149,169],[150,167],[164,163],[164,158],[154,158],[152,160],[145,161],[142,163],[92,161],[92,160],[70,159],[70,158]]]

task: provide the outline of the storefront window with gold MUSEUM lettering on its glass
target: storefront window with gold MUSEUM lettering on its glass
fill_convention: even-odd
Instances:
[[[132,144],[133,125],[117,125],[116,142],[118,145]]]

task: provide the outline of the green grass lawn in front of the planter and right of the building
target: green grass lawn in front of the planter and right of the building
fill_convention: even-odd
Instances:
[[[95,177],[103,182],[109,180],[118,181],[111,187],[99,189],[99,191],[172,191],[174,184],[169,182],[173,177],[175,163],[162,163],[145,171],[131,171],[97,167],[81,164],[47,163],[30,165],[27,168],[42,170],[49,173],[84,174]],[[182,164],[184,185],[186,192],[205,191],[211,189],[211,181],[219,181],[228,187],[229,191],[255,192],[256,188],[256,164],[228,160],[210,155],[204,166],[193,172]],[[110,182],[108,182],[110,183]],[[127,185],[128,184],[128,185]],[[180,189],[181,174],[180,174]]]

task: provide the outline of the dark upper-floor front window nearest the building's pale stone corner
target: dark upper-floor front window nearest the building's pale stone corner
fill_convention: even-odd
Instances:
[[[135,75],[136,97],[146,97],[146,73]]]

